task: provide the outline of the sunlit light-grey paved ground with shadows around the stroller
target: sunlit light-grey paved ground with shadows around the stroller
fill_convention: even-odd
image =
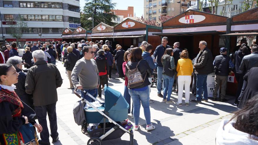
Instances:
[[[65,68],[61,62],[57,62],[63,78],[63,84],[57,88],[58,101],[56,106],[57,125],[59,141],[54,145],[80,145],[87,144],[89,137],[82,134],[81,127],[74,122],[73,107],[79,98],[69,90],[69,80],[65,74]],[[109,81],[109,86],[123,94],[124,80],[117,78],[113,70],[114,80]],[[79,93],[79,92],[78,92]],[[102,91],[100,100],[104,101]],[[232,112],[237,108],[232,105],[235,98],[226,96],[228,102],[216,102],[208,100],[203,103],[191,103],[189,106],[177,106],[176,104],[162,103],[162,98],[157,97],[157,89],[151,88],[150,98],[154,103],[150,104],[151,122],[156,126],[155,130],[146,131],[146,122],[143,108],[140,109],[140,129],[134,131],[135,145],[215,145],[215,134],[221,120],[232,117]],[[173,91],[171,96],[173,101],[177,101],[177,95]],[[190,99],[194,99],[190,95]],[[184,99],[184,97],[183,97]],[[128,119],[134,120],[128,114]],[[48,122],[49,127],[49,122]],[[50,129],[49,129],[50,130]],[[125,133],[121,138],[103,141],[104,145],[125,145],[129,144],[130,136]],[[50,141],[52,138],[50,137]],[[51,143],[53,144],[53,143]]]

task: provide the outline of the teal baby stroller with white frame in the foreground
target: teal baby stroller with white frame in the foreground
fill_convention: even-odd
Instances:
[[[105,103],[100,103],[101,106],[98,108],[82,98],[76,92],[77,88],[74,90],[74,93],[90,106],[88,109],[84,109],[86,122],[99,123],[97,129],[88,132],[90,139],[87,144],[102,145],[102,140],[117,139],[127,132],[130,134],[130,145],[133,145],[133,131],[128,131],[120,123],[128,117],[129,104],[120,92],[109,88],[107,85],[105,85],[104,90]],[[88,92],[84,91],[84,93],[95,101],[99,101]]]

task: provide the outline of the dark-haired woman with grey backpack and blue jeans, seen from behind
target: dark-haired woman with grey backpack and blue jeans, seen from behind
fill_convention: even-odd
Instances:
[[[144,116],[146,120],[146,130],[153,130],[155,129],[155,126],[153,126],[150,122],[150,102],[149,102],[149,85],[150,81],[148,77],[151,77],[151,69],[147,61],[142,60],[142,49],[139,47],[133,48],[131,50],[131,57],[130,61],[128,61],[127,66],[129,69],[132,71],[136,67],[140,71],[140,74],[142,75],[142,78],[144,81],[135,86],[135,87],[130,87],[130,83],[139,81],[138,78],[135,77],[130,77],[128,75],[128,67],[125,69],[125,74],[128,78],[128,92],[133,100],[133,117],[134,117],[134,130],[139,129],[139,117],[140,117],[140,107],[142,103],[142,107],[144,110]],[[137,80],[135,80],[137,79]]]

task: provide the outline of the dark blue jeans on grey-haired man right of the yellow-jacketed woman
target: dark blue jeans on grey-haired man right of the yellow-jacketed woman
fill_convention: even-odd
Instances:
[[[207,91],[207,74],[196,74],[196,100],[201,101],[202,94],[203,99],[208,99],[208,91]]]

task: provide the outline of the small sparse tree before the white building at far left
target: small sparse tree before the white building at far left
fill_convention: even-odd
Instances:
[[[9,25],[9,27],[11,28],[11,32],[9,32],[9,34],[13,38],[16,38],[17,46],[19,46],[19,39],[21,39],[23,32],[28,28],[27,22],[24,21],[24,19],[21,18],[21,15],[19,14],[16,24]]]

